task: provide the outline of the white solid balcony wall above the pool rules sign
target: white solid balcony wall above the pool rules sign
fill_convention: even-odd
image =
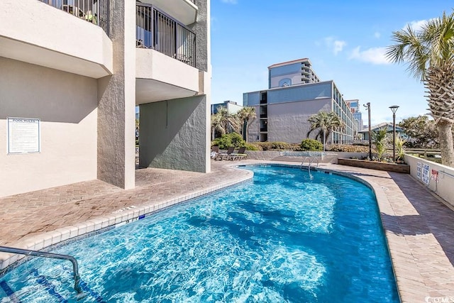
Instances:
[[[113,73],[103,29],[36,0],[2,0],[0,57],[92,78]]]

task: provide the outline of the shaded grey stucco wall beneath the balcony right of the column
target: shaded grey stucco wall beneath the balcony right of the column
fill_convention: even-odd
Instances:
[[[140,167],[206,172],[206,96],[140,105]]]

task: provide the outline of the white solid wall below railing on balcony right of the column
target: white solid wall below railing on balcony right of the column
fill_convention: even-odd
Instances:
[[[136,49],[135,78],[136,104],[199,94],[199,70],[156,50]]]

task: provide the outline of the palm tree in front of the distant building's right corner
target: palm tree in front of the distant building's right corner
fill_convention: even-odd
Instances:
[[[326,143],[326,139],[329,137],[332,131],[340,129],[344,126],[341,118],[334,112],[319,111],[317,114],[314,114],[307,119],[311,123],[311,127],[307,132],[307,138],[309,135],[316,130],[319,130],[315,138],[323,138],[323,149]]]

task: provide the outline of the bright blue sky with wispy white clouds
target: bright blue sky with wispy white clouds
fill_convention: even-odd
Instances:
[[[243,104],[243,92],[267,89],[267,67],[308,57],[321,81],[344,99],[371,104],[372,125],[426,114],[425,89],[406,65],[387,62],[392,32],[443,11],[448,0],[211,0],[211,103]],[[367,111],[361,106],[367,124]]]

